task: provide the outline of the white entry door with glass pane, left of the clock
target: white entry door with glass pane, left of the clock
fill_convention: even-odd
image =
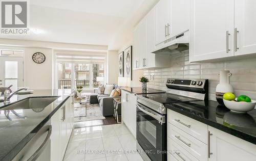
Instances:
[[[23,58],[0,57],[0,87],[23,87]]]

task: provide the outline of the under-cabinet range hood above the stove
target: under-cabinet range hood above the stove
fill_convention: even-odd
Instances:
[[[189,37],[188,31],[181,33],[175,37],[165,40],[163,43],[159,44],[160,47],[155,49],[153,53],[162,55],[174,55],[182,51],[189,49]]]

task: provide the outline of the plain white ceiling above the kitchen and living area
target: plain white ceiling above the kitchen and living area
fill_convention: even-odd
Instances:
[[[0,38],[108,45],[131,41],[139,20],[159,0],[31,0],[29,28],[24,36]]]

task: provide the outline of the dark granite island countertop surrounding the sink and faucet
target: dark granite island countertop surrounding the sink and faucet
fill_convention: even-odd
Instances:
[[[32,109],[14,110],[21,118],[14,115],[11,111],[9,120],[5,111],[1,110],[6,105],[0,102],[0,160],[11,160],[45,125],[60,106],[71,96],[73,90],[34,90],[32,94],[14,95],[11,103],[21,101],[29,97],[53,97],[58,96],[51,104],[46,106],[41,112]]]

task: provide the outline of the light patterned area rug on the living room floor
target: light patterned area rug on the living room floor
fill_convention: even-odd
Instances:
[[[87,105],[87,116],[85,115],[86,108],[75,108],[74,122],[91,121],[91,120],[102,120],[105,117],[102,115],[99,104],[88,104]]]

